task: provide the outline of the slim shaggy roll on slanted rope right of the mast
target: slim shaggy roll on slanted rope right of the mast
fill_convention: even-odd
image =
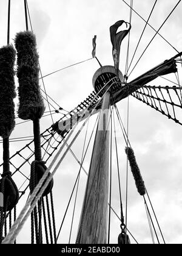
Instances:
[[[138,190],[138,193],[141,196],[144,196],[144,194],[146,193],[146,189],[145,189],[143,178],[141,177],[140,169],[139,169],[139,167],[136,163],[136,158],[135,158],[135,154],[133,152],[133,149],[129,148],[129,147],[126,147],[125,152],[127,154],[127,158],[129,160],[129,163],[130,163],[130,168],[131,168],[133,177],[135,179],[135,184],[136,184],[136,188]]]

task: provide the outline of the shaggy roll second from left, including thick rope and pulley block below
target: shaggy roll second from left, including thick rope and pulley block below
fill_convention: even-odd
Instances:
[[[35,160],[31,165],[30,193],[38,184],[47,167],[41,157],[41,138],[39,119],[44,113],[45,106],[39,87],[39,61],[36,51],[36,38],[30,31],[16,34],[15,46],[17,50],[18,64],[18,116],[21,119],[33,120],[33,135],[35,145]],[[49,176],[50,174],[48,174]],[[53,179],[50,181],[43,196],[49,194],[53,187]]]

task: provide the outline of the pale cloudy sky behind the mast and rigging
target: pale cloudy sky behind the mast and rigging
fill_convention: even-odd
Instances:
[[[7,0],[0,1],[0,41],[1,45],[7,40]],[[126,0],[130,4],[129,0]],[[147,20],[154,0],[133,0],[135,9],[144,19]],[[150,24],[158,29],[167,15],[173,9],[177,0],[158,0],[150,18]],[[39,52],[39,62],[42,74],[48,74],[56,69],[64,68],[92,57],[92,38],[97,35],[96,56],[102,65],[113,65],[112,44],[110,43],[109,27],[118,20],[129,21],[129,7],[122,0],[29,0],[29,10],[32,19],[33,30],[36,34]],[[11,12],[10,38],[13,43],[16,32],[25,30],[24,1],[13,0]],[[161,35],[182,51],[181,32],[181,11],[182,5],[178,5],[175,12],[160,30]],[[135,13],[132,15],[132,30],[130,34],[129,61],[135,50],[144,27],[144,22]],[[136,52],[133,64],[136,63],[147,43],[155,32],[147,27]],[[127,39],[121,45],[120,69],[124,73],[126,63]],[[134,79],[158,63],[174,56],[172,49],[163,38],[155,37],[150,44],[140,63],[136,66],[130,79]],[[79,102],[93,90],[92,77],[99,68],[95,59],[75,65],[62,70],[44,79],[47,93],[66,110],[76,107]],[[180,67],[179,67],[180,68]],[[181,70],[179,69],[180,79]],[[175,76],[169,76],[175,80]],[[176,80],[175,80],[176,82]],[[40,82],[41,84],[41,82]],[[166,80],[158,79],[151,85],[172,85]],[[42,87],[42,84],[41,84]],[[16,103],[17,103],[16,99]],[[56,107],[56,105],[54,104]],[[127,101],[118,103],[123,122],[127,124]],[[46,111],[48,111],[48,107]],[[53,115],[53,121],[57,121],[61,115]],[[16,119],[21,122],[20,119]],[[94,125],[95,117],[90,119],[88,138]],[[42,119],[41,130],[50,127],[52,119],[50,116]],[[81,159],[83,149],[83,133],[73,145],[73,152]],[[25,123],[16,126],[12,138],[32,136],[32,124]],[[117,140],[120,155],[120,172],[122,183],[123,205],[125,211],[126,196],[126,155],[124,153],[124,139],[117,124]],[[138,165],[140,166],[144,182],[153,202],[153,207],[158,216],[166,243],[181,243],[182,241],[182,138],[181,127],[173,121],[168,120],[152,108],[129,98],[129,140],[135,151]],[[16,152],[26,141],[11,144],[11,152]],[[92,145],[89,148],[84,168],[88,171]],[[113,192],[112,205],[120,215],[118,182],[116,179],[116,157],[113,151]],[[55,175],[55,214],[57,227],[61,224],[62,216],[66,209],[72,191],[73,183],[79,171],[78,163],[71,154],[68,154],[62,162]],[[18,177],[16,182],[21,184]],[[75,243],[78,229],[79,215],[83,200],[86,175],[81,173],[81,182],[78,190],[78,202],[76,203],[75,220],[71,243]],[[59,243],[68,243],[70,219],[72,218],[73,201],[70,207],[66,222],[60,233]],[[129,172],[129,197],[127,206],[127,224],[130,232],[135,236],[138,243],[152,243],[150,237],[147,216],[144,208],[143,198],[137,193],[132,174]],[[112,214],[112,226],[110,242],[117,243],[120,233],[120,221]],[[19,234],[19,242],[29,241],[28,224]],[[132,240],[132,243],[133,240]]]

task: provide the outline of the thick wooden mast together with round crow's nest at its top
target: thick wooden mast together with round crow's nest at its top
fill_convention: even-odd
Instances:
[[[119,77],[123,80],[121,72]],[[103,103],[99,113],[76,243],[107,243],[110,96],[113,90],[112,84],[121,87],[118,84],[121,82],[120,79],[116,76],[116,69],[113,66],[103,66],[93,76],[96,92],[105,87],[99,94],[103,96]]]

